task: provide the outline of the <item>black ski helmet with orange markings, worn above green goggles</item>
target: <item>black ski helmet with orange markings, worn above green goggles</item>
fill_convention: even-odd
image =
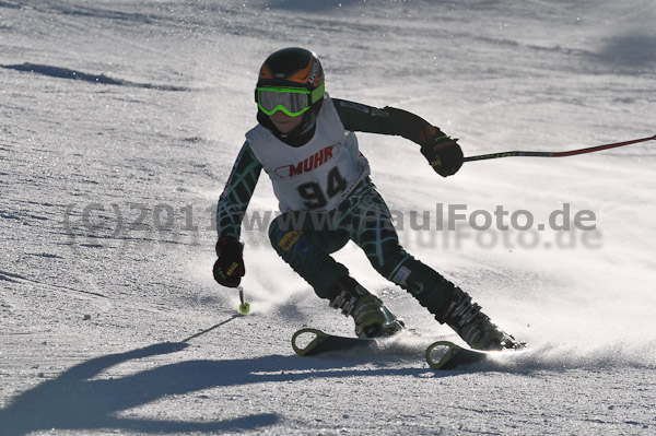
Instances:
[[[305,48],[289,47],[274,51],[262,63],[256,87],[291,86],[304,87],[311,93],[323,86],[324,69],[317,55]],[[315,93],[316,94],[316,93]],[[255,93],[257,102],[257,91]],[[314,135],[317,114],[324,103],[324,94],[316,95],[309,110],[303,114],[303,120],[293,131],[282,134],[276,129],[269,117],[258,109],[257,120],[278,138],[292,145],[300,145]]]

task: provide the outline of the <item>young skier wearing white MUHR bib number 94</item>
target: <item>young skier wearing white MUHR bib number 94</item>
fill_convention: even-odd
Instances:
[[[397,134],[415,142],[443,177],[462,165],[455,139],[405,110],[330,98],[319,59],[303,48],[285,48],[267,58],[255,99],[259,123],[246,133],[219,199],[216,282],[236,287],[244,276],[241,223],[263,168],[282,212],[269,227],[271,245],[319,297],[353,317],[358,337],[393,334],[403,325],[330,256],[349,240],[383,276],[410,292],[471,347],[517,346],[467,293],[399,245],[353,132]]]

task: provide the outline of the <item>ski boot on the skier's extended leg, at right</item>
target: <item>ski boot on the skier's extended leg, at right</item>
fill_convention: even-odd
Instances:
[[[481,311],[481,306],[471,303],[469,294],[456,287],[444,308],[435,315],[441,323],[447,323],[476,350],[519,349],[515,338],[501,330]]]

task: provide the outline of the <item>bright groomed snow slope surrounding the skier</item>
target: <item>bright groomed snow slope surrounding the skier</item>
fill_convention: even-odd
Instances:
[[[653,0],[0,1],[0,434],[656,433],[656,142],[442,179],[359,135],[406,248],[528,341],[513,362],[295,356],[296,329],[352,325],[266,227],[244,233],[251,314],[211,276],[269,52],[316,50],[331,95],[421,115],[466,155],[562,151],[656,133],[655,19]],[[262,175],[249,213],[276,204]],[[596,231],[410,228],[436,204],[536,225],[567,204]],[[337,258],[449,333],[353,245]]]

